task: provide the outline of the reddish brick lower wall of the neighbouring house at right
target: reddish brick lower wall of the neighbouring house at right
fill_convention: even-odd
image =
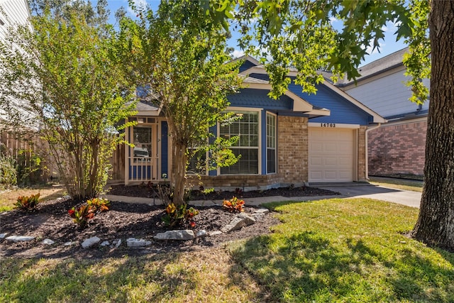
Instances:
[[[381,126],[368,133],[369,175],[423,175],[427,121]]]

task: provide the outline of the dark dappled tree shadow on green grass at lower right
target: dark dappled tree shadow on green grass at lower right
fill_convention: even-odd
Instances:
[[[454,255],[440,253],[443,263],[417,248],[388,258],[355,238],[341,246],[316,232],[274,234],[229,248],[273,302],[454,302]]]

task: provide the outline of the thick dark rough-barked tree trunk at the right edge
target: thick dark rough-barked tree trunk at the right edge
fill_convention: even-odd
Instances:
[[[431,103],[414,238],[454,248],[454,1],[431,1]]]

